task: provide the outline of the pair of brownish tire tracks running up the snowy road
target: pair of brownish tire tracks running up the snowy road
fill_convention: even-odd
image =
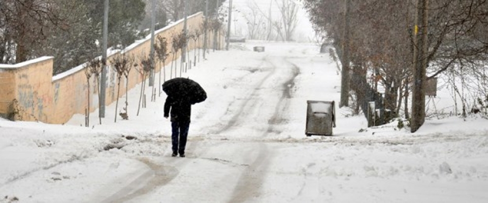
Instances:
[[[280,124],[284,121],[282,119],[281,112],[286,110],[289,106],[289,98],[291,98],[291,87],[294,85],[294,79],[299,75],[298,67],[295,64],[286,61],[286,65],[284,67],[280,67],[284,69],[286,72],[282,75],[285,75],[285,78],[282,79],[280,76],[277,75],[278,65],[270,61],[269,58],[265,58],[265,60],[272,64],[272,70],[269,74],[259,80],[252,88],[250,94],[247,95],[243,103],[239,106],[239,109],[235,114],[231,117],[229,122],[222,128],[218,129],[215,133],[222,133],[224,131],[231,130],[232,127],[237,126],[239,121],[242,119],[246,119],[246,116],[243,115],[243,112],[246,110],[253,110],[256,108],[256,105],[262,102],[262,96],[265,93],[269,93],[269,91],[281,91],[279,94],[279,98],[277,99],[277,103],[275,104],[273,114],[268,120],[268,128],[262,130],[262,136],[265,137],[269,132],[273,130],[273,125]],[[283,61],[282,58],[279,60]],[[291,64],[291,65],[289,65]],[[288,70],[288,69],[291,69]],[[289,73],[288,73],[289,72]],[[246,75],[246,77],[255,77],[252,74]],[[276,78],[274,78],[276,76]],[[265,84],[267,82],[274,83],[270,81],[270,79],[277,79],[281,88],[273,89],[273,90],[265,90],[267,92],[262,91],[265,89]],[[231,103],[229,106],[232,106],[234,103]],[[250,111],[249,111],[250,112]],[[253,116],[253,115],[250,115]],[[200,149],[200,142],[189,142],[190,146],[188,146],[187,151],[187,158],[186,159],[169,159],[169,163],[167,165],[158,165],[155,163],[151,163],[148,160],[144,161],[151,170],[142,174],[139,178],[132,181],[131,184],[125,186],[121,190],[117,191],[114,195],[106,199],[105,202],[121,202],[121,201],[128,201],[134,199],[138,196],[150,193],[155,188],[163,187],[175,177],[178,176],[179,171],[176,169],[175,165],[178,167],[182,167],[186,164],[190,164],[188,158],[199,158],[199,154],[205,154],[209,147]],[[223,144],[223,143],[220,143]],[[212,146],[211,148],[215,148],[218,146]],[[251,153],[248,156],[249,160],[252,160],[252,163],[246,167],[246,170],[241,174],[238,180],[238,184],[235,186],[234,192],[232,193],[231,202],[240,202],[249,199],[252,196],[259,195],[260,186],[263,182],[263,177],[266,175],[266,171],[269,165],[269,162],[272,157],[272,153],[268,149],[268,146],[265,143],[259,143],[255,149],[252,149],[257,153]]]

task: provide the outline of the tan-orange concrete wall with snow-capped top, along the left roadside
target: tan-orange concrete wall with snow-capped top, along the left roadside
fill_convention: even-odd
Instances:
[[[200,28],[203,22],[203,14],[198,13],[188,17],[188,30],[191,32]],[[171,47],[172,36],[183,30],[183,21],[180,20],[171,26],[167,26],[155,32],[156,37],[162,36],[168,39],[168,46]],[[212,33],[209,39],[213,40]],[[157,38],[156,38],[157,39]],[[219,44],[222,46],[223,38],[220,37]],[[203,35],[201,36],[200,47],[203,46]],[[193,40],[188,44],[188,49],[196,47]],[[155,41],[157,43],[157,40]],[[110,64],[111,59],[117,54],[134,56],[138,67],[141,67],[140,59],[149,57],[150,39],[139,41],[123,51],[112,53],[108,56],[107,62],[107,83],[106,85],[106,105],[112,104],[117,99],[117,75]],[[212,44],[209,45],[212,47]],[[177,57],[180,56],[177,53]],[[189,57],[192,60],[193,56]],[[166,61],[171,63],[172,54]],[[188,61],[188,60],[187,60]],[[160,66],[156,58],[155,75],[160,71]],[[72,70],[52,76],[53,58],[41,57],[15,65],[0,64],[0,116],[6,117],[15,107],[17,119],[24,121],[41,121],[46,123],[61,124],[67,122],[74,114],[85,114],[85,110],[90,106],[93,112],[99,106],[96,78],[87,79],[85,66],[80,65]],[[169,68],[169,67],[167,67]],[[133,68],[129,73],[128,85],[125,85],[125,77],[120,82],[120,96],[125,94],[126,89],[132,89],[141,83],[143,75]],[[89,82],[88,82],[89,81]],[[155,81],[158,87],[158,77]],[[148,88],[147,88],[148,89]],[[150,90],[149,90],[150,91]],[[150,95],[149,91],[146,93]],[[150,96],[148,96],[150,99]],[[122,104],[122,103],[120,103]],[[119,104],[119,105],[120,105]],[[120,108],[121,109],[121,108]],[[113,112],[106,112],[106,114]]]

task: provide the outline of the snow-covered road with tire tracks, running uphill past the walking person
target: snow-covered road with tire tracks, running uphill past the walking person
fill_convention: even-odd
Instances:
[[[304,49],[302,51],[307,50],[307,48],[302,49]],[[287,50],[286,53],[291,51]],[[308,60],[306,56],[300,55],[299,57]],[[230,82],[218,85],[224,89],[242,93],[222,94],[209,98],[209,102],[220,99],[228,99],[229,102],[224,106],[206,108],[204,112],[200,112],[199,120],[211,120],[210,118],[216,117],[214,111],[216,108],[225,109],[222,111],[222,115],[218,116],[218,120],[208,122],[208,126],[198,130],[192,130],[205,134],[206,138],[210,138],[212,142],[192,141],[190,139],[186,152],[186,158],[190,161],[175,163],[174,158],[169,158],[169,160],[154,163],[155,165],[159,164],[162,171],[165,170],[164,165],[168,164],[171,168],[179,168],[181,171],[185,171],[185,174],[178,171],[181,176],[177,176],[174,182],[183,181],[182,184],[185,185],[185,182],[191,183],[192,180],[202,179],[202,184],[188,184],[184,186],[183,191],[178,191],[178,188],[181,187],[180,184],[174,188],[172,184],[168,185],[167,181],[147,184],[148,181],[138,180],[142,183],[140,189],[134,192],[138,195],[128,192],[134,187],[134,184],[131,183],[128,190],[123,188],[123,192],[117,192],[108,199],[113,200],[114,197],[118,198],[123,193],[128,195],[123,196],[122,199],[117,199],[117,202],[119,200],[134,202],[157,202],[158,200],[162,202],[242,202],[260,196],[261,186],[267,176],[267,168],[275,150],[272,149],[274,146],[259,140],[267,139],[270,134],[280,135],[281,126],[286,125],[290,120],[290,115],[286,112],[289,111],[290,99],[294,93],[295,78],[300,72],[299,67],[289,62],[286,55],[262,54],[262,56],[257,57],[256,62],[258,62],[257,65],[238,66],[238,69],[226,67],[223,74],[227,71],[242,73],[239,74],[239,78],[232,78]],[[207,115],[210,116],[208,119],[206,118]],[[234,141],[234,139],[243,138],[247,140],[245,143]],[[255,139],[259,140],[254,141]],[[208,172],[204,174],[202,174],[202,164],[211,164]],[[158,174],[161,170],[155,170],[153,174]],[[217,177],[217,179],[213,180],[210,177]],[[141,176],[141,179],[147,178]],[[173,178],[175,177],[171,177],[171,179]],[[180,178],[183,180],[179,180]],[[150,186],[148,187],[148,185]],[[153,188],[154,191],[148,192],[148,188]],[[202,196],[200,193],[207,195]],[[185,199],[187,197],[192,198]]]

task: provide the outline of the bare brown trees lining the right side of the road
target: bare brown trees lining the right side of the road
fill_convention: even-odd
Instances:
[[[344,8],[347,1],[350,3],[347,15],[350,29],[345,33]],[[416,49],[413,36],[416,1],[302,2],[314,29],[324,41],[332,42],[340,61],[343,61],[344,51],[349,51],[350,92],[354,99],[359,100],[358,104],[367,96],[365,85],[376,88],[379,83],[384,87],[385,108],[408,118],[408,98],[415,82],[412,63]],[[479,107],[478,98],[486,109],[488,1],[429,0],[427,12],[427,80],[440,77],[447,81],[447,86],[453,89],[453,96],[458,94],[462,97],[464,115],[468,106]],[[346,35],[349,35],[348,43],[344,43]],[[473,79],[482,82],[467,82]],[[458,85],[471,87],[477,93],[464,96]],[[471,97],[470,101],[467,97]],[[356,108],[357,112],[359,108]]]

